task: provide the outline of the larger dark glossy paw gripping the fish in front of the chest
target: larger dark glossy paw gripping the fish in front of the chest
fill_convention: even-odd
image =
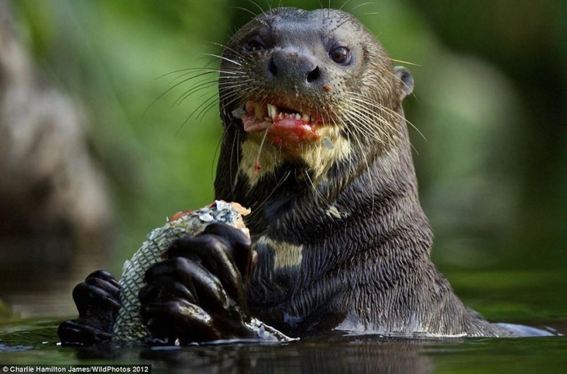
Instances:
[[[152,338],[187,344],[253,337],[245,325],[245,283],[254,255],[247,236],[222,223],[172,245],[167,260],[146,272],[139,294]]]

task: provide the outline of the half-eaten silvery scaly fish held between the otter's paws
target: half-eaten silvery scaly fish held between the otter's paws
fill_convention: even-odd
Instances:
[[[142,322],[138,293],[144,287],[144,274],[155,263],[163,261],[166,250],[186,235],[195,236],[211,223],[226,223],[250,237],[243,216],[250,210],[239,203],[216,200],[198,210],[178,212],[161,228],[152,230],[132,256],[124,262],[120,278],[120,309],[113,326],[113,342],[144,342],[150,336]],[[259,321],[250,321],[254,329],[263,329]],[[260,325],[259,325],[260,324]]]

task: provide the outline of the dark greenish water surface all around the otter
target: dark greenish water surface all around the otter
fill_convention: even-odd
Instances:
[[[465,305],[493,322],[567,333],[563,270],[446,272]],[[63,292],[62,292],[63,293]],[[408,339],[330,334],[291,344],[80,349],[59,347],[52,311],[65,301],[27,294],[29,316],[0,322],[2,364],[151,364],[153,372],[191,373],[565,373],[567,337]],[[16,302],[16,298],[10,298]],[[14,304],[12,304],[14,305]],[[23,304],[22,304],[23,305]],[[21,309],[23,310],[23,309]],[[69,317],[76,312],[69,312]]]

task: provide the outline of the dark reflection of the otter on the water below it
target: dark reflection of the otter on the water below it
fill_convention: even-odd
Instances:
[[[325,336],[289,344],[223,344],[144,349],[78,349],[83,360],[136,360],[168,373],[432,373],[423,355],[434,341]]]

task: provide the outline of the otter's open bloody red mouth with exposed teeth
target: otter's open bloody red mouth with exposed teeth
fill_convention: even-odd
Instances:
[[[267,131],[276,146],[289,143],[309,143],[320,140],[318,129],[322,126],[320,115],[311,115],[276,104],[260,104],[248,101],[239,109],[244,131]]]

